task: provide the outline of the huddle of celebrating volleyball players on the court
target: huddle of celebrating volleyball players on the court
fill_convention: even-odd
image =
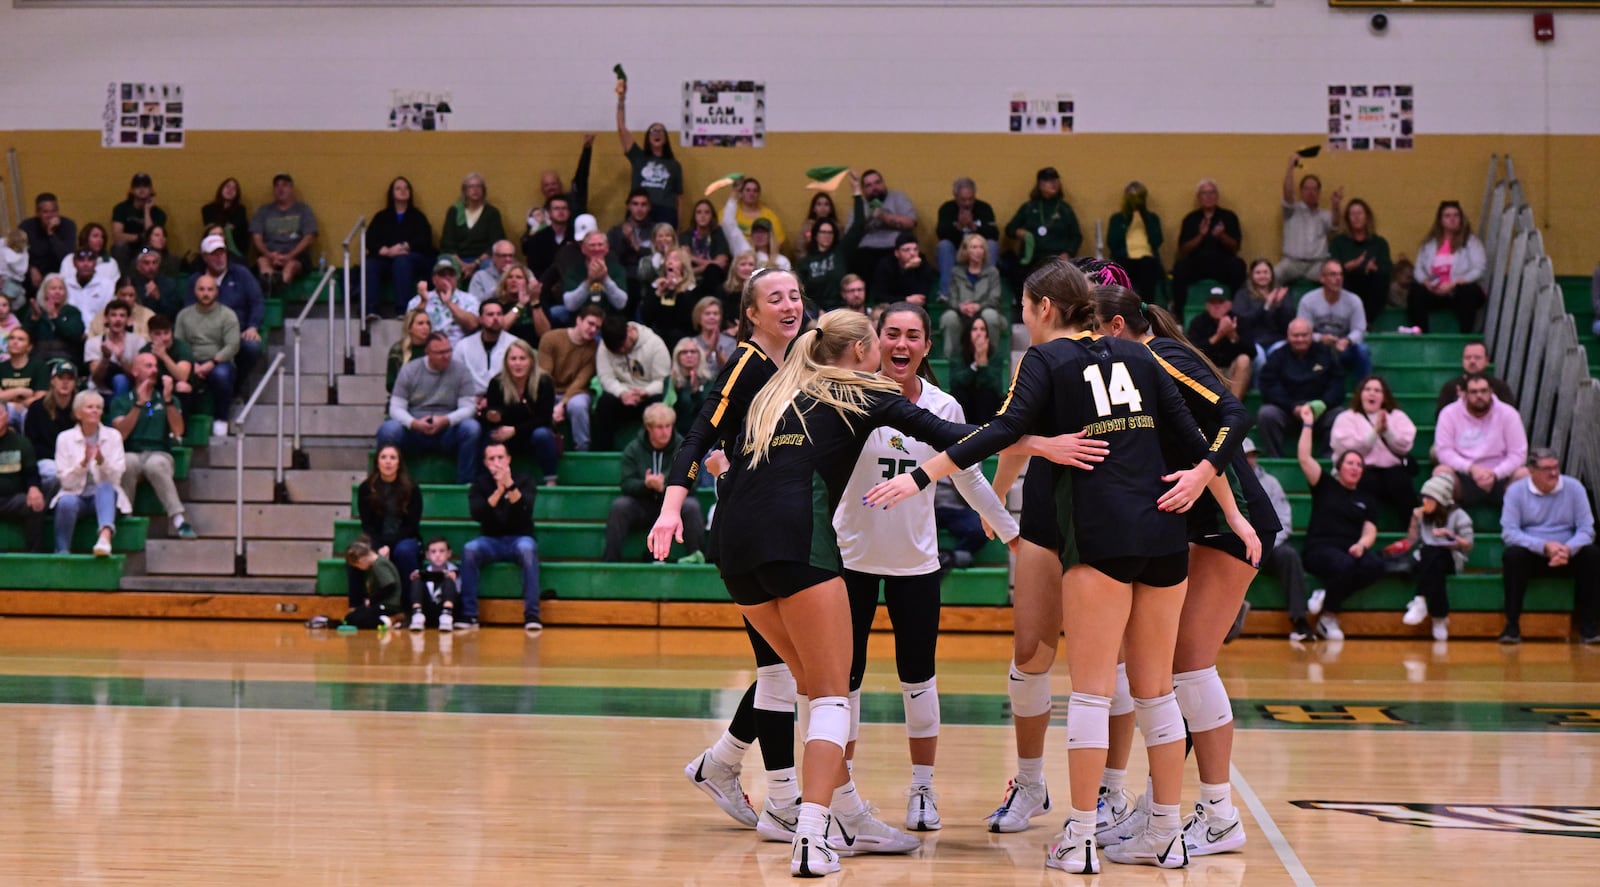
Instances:
[[[718,807],[789,842],[790,874],[818,877],[853,853],[907,853],[941,828],[934,653],[939,559],[930,485],[950,477],[1016,554],[1014,652],[1006,680],[1018,773],[987,828],[1048,813],[1043,778],[1050,669],[1066,634],[1070,799],[1045,865],[1181,868],[1237,850],[1229,791],[1232,709],[1216,655],[1275,512],[1240,453],[1245,408],[1165,311],[1109,263],[1058,261],[1022,291],[1034,343],[1005,403],[966,424],[931,381],[930,317],[915,304],[834,311],[814,328],[798,280],[762,271],[741,299],[739,349],[685,435],[651,551],[682,538],[701,458],[723,448],[707,552],[746,618],[755,684],[728,728],[685,769]],[[979,463],[1000,455],[994,484]],[[1030,461],[1029,461],[1030,460]],[[1027,468],[1021,520],[1002,496]],[[878,592],[894,628],[912,778],[901,831],[856,793],[851,762]],[[795,769],[798,711],[805,738]],[[1150,783],[1125,788],[1133,730]],[[1184,740],[1202,797],[1179,815]],[[766,797],[739,781],[760,741]]]

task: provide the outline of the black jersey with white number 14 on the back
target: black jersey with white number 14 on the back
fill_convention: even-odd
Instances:
[[[1155,504],[1170,487],[1162,480],[1163,440],[1186,453],[1187,464],[1206,458],[1210,447],[1178,386],[1142,344],[1078,333],[1027,349],[995,418],[947,455],[966,468],[1024,434],[1077,431],[1106,440],[1110,452],[1093,471],[1058,476],[1062,565],[1184,551],[1184,517]]]

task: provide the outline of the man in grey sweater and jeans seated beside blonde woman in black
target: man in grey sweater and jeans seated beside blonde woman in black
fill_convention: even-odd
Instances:
[[[403,455],[442,452],[456,458],[456,484],[477,469],[478,421],[472,373],[451,360],[450,336],[432,331],[426,357],[400,368],[389,395],[389,419],[378,429],[379,447]]]

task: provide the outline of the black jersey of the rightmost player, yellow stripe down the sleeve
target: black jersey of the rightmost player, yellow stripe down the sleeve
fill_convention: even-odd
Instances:
[[[1254,527],[1261,536],[1261,544],[1270,548],[1282,525],[1278,514],[1272,508],[1267,490],[1261,479],[1245,461],[1245,429],[1250,413],[1245,405],[1234,397],[1227,384],[1195,357],[1182,343],[1168,338],[1154,338],[1147,343],[1155,354],[1155,360],[1166,370],[1166,375],[1178,383],[1178,392],[1184,397],[1189,413],[1200,423],[1200,431],[1211,442],[1210,458],[1218,469],[1227,471],[1227,484],[1234,490],[1238,511]],[[1181,453],[1168,448],[1168,464],[1181,466]],[[1219,533],[1232,533],[1227,519],[1222,517],[1222,506],[1210,493],[1202,496],[1194,508],[1186,512],[1189,538],[1200,540]]]

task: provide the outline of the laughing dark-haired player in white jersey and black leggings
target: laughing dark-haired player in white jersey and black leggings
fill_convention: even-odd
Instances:
[[[928,338],[928,312],[912,303],[894,303],[878,315],[880,375],[899,386],[901,395],[930,413],[952,423],[965,423],[960,403],[941,391],[928,368],[933,346]],[[845,564],[845,588],[854,629],[850,663],[850,745],[846,764],[854,761],[856,735],[861,725],[861,680],[867,664],[867,637],[878,608],[878,591],[894,628],[894,664],[906,708],[906,738],[910,746],[910,788],[907,789],[906,828],[936,831],[941,828],[939,807],[933,793],[933,769],[939,746],[939,687],[934,655],[939,639],[939,530],[933,517],[933,498],[917,496],[894,511],[867,509],[861,496],[878,480],[910,471],[917,463],[938,453],[928,444],[893,427],[874,431],[856,468],[850,474],[845,496],[834,512],[838,552]],[[1016,538],[1016,520],[995,496],[978,466],[954,477],[957,490],[994,527],[1002,541]]]

